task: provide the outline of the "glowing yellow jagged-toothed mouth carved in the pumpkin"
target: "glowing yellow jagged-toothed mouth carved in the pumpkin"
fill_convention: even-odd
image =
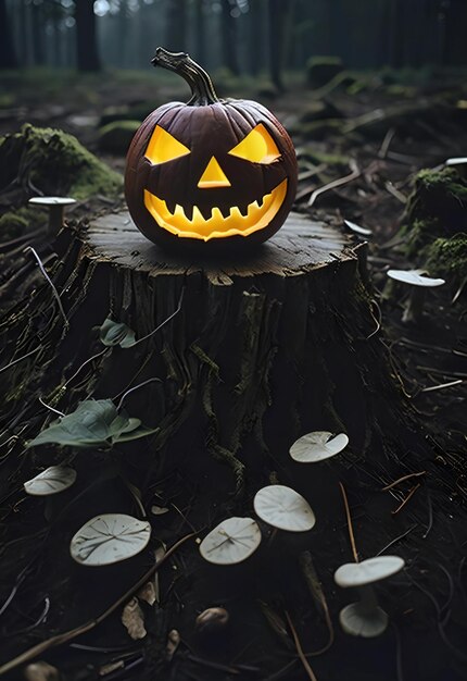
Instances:
[[[226,236],[248,236],[253,232],[266,227],[283,203],[287,194],[287,178],[283,179],[270,194],[258,201],[252,201],[244,210],[244,215],[237,206],[230,208],[229,214],[224,216],[216,206],[211,211],[210,218],[204,218],[198,206],[193,206],[191,218],[188,216],[179,203],[174,212],[168,208],[164,199],[144,189],[144,206],[154,218],[155,222],[180,237],[189,237],[209,242],[212,238]]]

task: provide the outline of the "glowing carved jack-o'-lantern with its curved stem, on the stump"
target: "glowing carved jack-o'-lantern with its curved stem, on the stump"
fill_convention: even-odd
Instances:
[[[153,111],[131,141],[125,194],[137,227],[155,244],[204,251],[265,242],[295,195],[289,135],[257,102],[218,100],[188,54],[157,48],[152,63],[181,75],[192,97]]]

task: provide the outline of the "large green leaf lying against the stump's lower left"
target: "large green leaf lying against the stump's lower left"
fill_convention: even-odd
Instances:
[[[154,432],[141,426],[140,419],[117,412],[111,399],[87,399],[72,413],[52,421],[27,446],[55,444],[71,447],[93,447],[129,442]]]

